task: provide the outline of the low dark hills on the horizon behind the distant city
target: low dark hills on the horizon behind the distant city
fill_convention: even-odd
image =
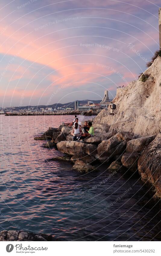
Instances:
[[[87,104],[88,101],[92,101],[93,103],[100,103],[101,100],[79,100],[80,105]],[[58,107],[62,108],[74,108],[74,102],[68,102],[68,103],[55,103],[52,105],[39,105],[39,106],[24,106],[24,107],[15,107],[16,109],[28,109],[28,108],[34,108],[34,109],[40,109],[40,108],[53,108],[55,109]]]

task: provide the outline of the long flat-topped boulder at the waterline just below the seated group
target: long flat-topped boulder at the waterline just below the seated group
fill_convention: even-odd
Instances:
[[[76,155],[80,153],[87,153],[91,156],[96,155],[97,147],[92,144],[81,143],[78,141],[61,141],[57,144],[57,148],[62,153],[69,155]]]

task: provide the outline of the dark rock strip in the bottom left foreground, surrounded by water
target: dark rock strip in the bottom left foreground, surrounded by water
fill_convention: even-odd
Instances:
[[[58,241],[52,235],[43,233],[34,234],[32,232],[25,232],[23,230],[3,230],[0,232],[1,241]]]

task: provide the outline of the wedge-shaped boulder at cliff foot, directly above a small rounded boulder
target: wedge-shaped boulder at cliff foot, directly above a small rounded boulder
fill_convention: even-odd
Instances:
[[[155,135],[140,137],[131,141],[128,141],[126,146],[126,152],[138,152],[141,153],[155,139]]]

